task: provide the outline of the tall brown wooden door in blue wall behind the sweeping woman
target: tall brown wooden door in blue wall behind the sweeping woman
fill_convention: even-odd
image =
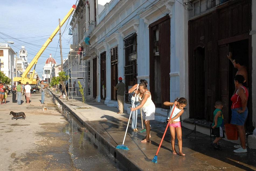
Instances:
[[[170,101],[170,27],[169,16],[149,26],[150,89],[160,108],[166,108],[163,102]]]

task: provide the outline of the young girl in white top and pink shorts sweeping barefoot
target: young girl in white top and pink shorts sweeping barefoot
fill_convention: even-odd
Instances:
[[[168,117],[169,120],[169,128],[171,131],[171,136],[172,136],[172,154],[177,154],[175,150],[175,132],[177,133],[177,139],[178,139],[178,146],[179,146],[179,153],[181,156],[185,156],[182,152],[182,131],[181,131],[181,124],[180,124],[180,116],[184,112],[184,107],[187,104],[187,100],[184,97],[180,97],[175,99],[175,102],[164,102],[163,103],[166,106],[172,106],[170,114],[174,110],[172,114],[172,118],[170,119],[170,114]]]

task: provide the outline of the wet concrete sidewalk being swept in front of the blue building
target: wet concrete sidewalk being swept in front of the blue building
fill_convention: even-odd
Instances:
[[[168,130],[158,154],[157,164],[152,163],[151,160],[155,156],[166,128],[165,123],[152,121],[151,143],[144,144],[140,141],[146,133],[139,132],[142,130],[139,115],[137,121],[139,131],[132,131],[131,125],[129,125],[128,134],[126,135],[125,145],[128,145],[130,150],[116,150],[116,146],[122,144],[129,114],[116,114],[117,108],[108,107],[103,103],[86,102],[83,104],[81,101],[74,99],[70,101],[61,100],[58,98],[59,94],[55,93],[53,93],[53,97],[56,98],[59,104],[64,105],[128,170],[256,170],[256,150],[247,148],[247,153],[236,154],[233,153],[233,146],[236,144],[221,140],[220,144],[223,150],[216,151],[210,146],[214,137],[211,138],[186,128],[182,128],[183,153],[186,156],[172,154],[170,132]],[[178,151],[177,140],[175,148]]]

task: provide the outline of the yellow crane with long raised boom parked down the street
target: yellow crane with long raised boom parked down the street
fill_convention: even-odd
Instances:
[[[76,9],[76,5],[73,5],[70,11],[67,13],[67,15],[64,17],[64,19],[61,21],[61,26],[67,21],[67,19],[70,17],[70,15],[73,13],[73,11]],[[44,50],[47,48],[47,46],[52,42],[53,37],[57,34],[59,31],[59,26],[55,28],[52,35],[46,40],[44,45],[41,47],[41,49],[38,51],[38,53],[35,55],[29,66],[26,68],[26,70],[23,72],[21,77],[15,77],[14,81],[20,81],[23,84],[26,84],[26,82],[29,82],[29,84],[36,84],[36,79],[34,78],[35,74],[35,66],[38,63],[38,58],[41,56],[41,54],[44,52]],[[35,65],[35,66],[34,66]],[[32,74],[30,74],[30,70],[34,66],[34,70]]]

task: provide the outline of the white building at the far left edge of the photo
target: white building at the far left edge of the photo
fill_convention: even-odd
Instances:
[[[0,43],[0,71],[13,80],[15,76],[15,51],[7,43]]]

